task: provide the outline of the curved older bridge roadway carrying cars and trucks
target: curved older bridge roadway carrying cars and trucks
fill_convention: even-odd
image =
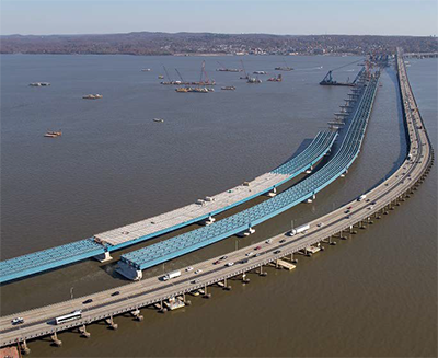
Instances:
[[[408,155],[402,165],[383,183],[366,193],[366,199],[354,200],[343,207],[309,222],[310,229],[306,233],[289,236],[287,233],[270,239],[270,243],[262,242],[252,246],[229,253],[227,259],[214,265],[219,257],[204,261],[193,266],[193,270],[186,272],[182,267],[182,275],[169,281],[160,280],[160,277],[148,278],[138,282],[125,285],[56,304],[20,312],[14,315],[0,319],[0,346],[7,346],[16,340],[26,340],[38,336],[51,334],[103,320],[111,315],[135,311],[137,308],[150,305],[161,300],[175,297],[185,292],[205,288],[226,278],[234,277],[254,270],[257,267],[275,262],[291,253],[296,253],[309,245],[349,230],[354,224],[368,220],[372,215],[380,215],[387,210],[394,200],[402,198],[405,193],[411,193],[412,187],[418,185],[428,168],[433,163],[431,147],[424,129],[424,125],[416,107],[415,99],[407,82],[407,76],[402,58],[399,58],[399,76],[403,105],[405,111],[406,129],[408,134]],[[351,207],[350,209],[347,209]],[[346,210],[349,210],[346,213]],[[261,246],[260,250],[255,250]],[[249,252],[256,252],[257,257],[247,257]],[[247,263],[239,263],[247,258]],[[234,263],[227,266],[227,263]],[[201,273],[195,274],[196,270]],[[196,280],[196,281],[195,281]],[[119,295],[112,296],[119,291]],[[92,299],[93,302],[82,302]],[[62,325],[55,325],[56,316],[82,309],[82,319]],[[11,320],[21,316],[24,323],[13,326]]]

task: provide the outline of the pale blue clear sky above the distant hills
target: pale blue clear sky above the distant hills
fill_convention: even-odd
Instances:
[[[437,0],[0,0],[1,34],[438,34]]]

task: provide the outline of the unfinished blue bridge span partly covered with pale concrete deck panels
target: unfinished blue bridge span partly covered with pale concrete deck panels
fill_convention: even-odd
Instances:
[[[218,195],[198,199],[183,208],[99,233],[90,239],[0,262],[0,282],[94,256],[99,256],[100,261],[107,261],[111,259],[110,252],[206,219],[205,223],[211,223],[215,221],[215,215],[274,192],[277,186],[312,168],[331,150],[336,136],[336,132],[321,131],[302,152],[275,170]],[[245,229],[247,228],[243,228],[242,231]]]

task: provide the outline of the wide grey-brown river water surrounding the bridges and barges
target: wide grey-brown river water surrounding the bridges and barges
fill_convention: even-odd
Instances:
[[[158,74],[198,80],[206,60],[215,93],[182,94]],[[291,57],[284,81],[246,84],[217,72],[240,57],[1,56],[1,258],[51,247],[193,203],[280,164],[327,127],[348,92],[318,83],[355,57]],[[250,72],[281,57],[243,57]],[[322,68],[321,68],[322,67]],[[150,72],[141,72],[151,68]],[[334,72],[353,79],[357,65]],[[268,74],[268,76],[269,76]],[[408,76],[437,148],[437,60],[411,60]],[[262,79],[267,76],[261,76]],[[47,81],[48,88],[30,82]],[[154,267],[184,267],[286,231],[371,188],[403,161],[396,77],[381,77],[362,151],[345,178],[300,205],[231,238]],[[235,91],[220,91],[235,85]],[[85,101],[83,94],[101,93]],[[154,123],[154,117],[164,123]],[[47,130],[62,137],[44,138]],[[437,171],[390,216],[292,273],[268,269],[231,292],[145,321],[116,317],[119,330],[89,327],[91,339],[59,335],[62,348],[31,343],[32,355],[74,356],[436,356]],[[250,205],[262,199],[253,200]],[[193,229],[187,228],[188,229]],[[178,232],[183,232],[180,230]],[[175,233],[124,252],[149,245]],[[114,255],[119,257],[120,253]],[[1,313],[36,308],[127,284],[114,263],[87,261],[1,287]]]

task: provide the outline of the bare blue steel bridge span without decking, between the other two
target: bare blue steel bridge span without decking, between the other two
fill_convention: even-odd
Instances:
[[[359,154],[378,80],[379,73],[362,88],[360,101],[339,150],[316,173],[269,200],[208,227],[124,254],[120,259],[136,269],[146,269],[242,232],[313,197],[345,173]]]

